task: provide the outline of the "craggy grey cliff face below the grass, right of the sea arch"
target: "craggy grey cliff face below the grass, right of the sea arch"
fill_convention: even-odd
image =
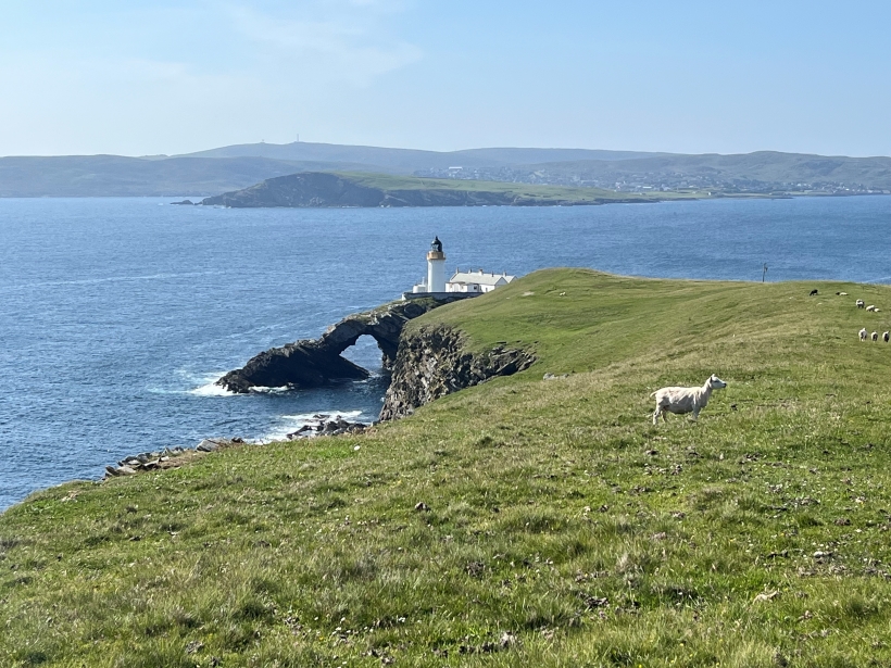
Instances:
[[[530,352],[503,345],[485,353],[468,352],[462,332],[442,325],[421,328],[400,341],[380,419],[411,415],[440,396],[495,376],[511,376],[535,361]]]

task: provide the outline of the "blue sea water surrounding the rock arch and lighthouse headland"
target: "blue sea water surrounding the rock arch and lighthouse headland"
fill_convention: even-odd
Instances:
[[[0,200],[0,509],[127,454],[372,420],[386,379],[216,395],[256,352],[396,299],[434,235],[449,270],[891,282],[891,198],[592,207],[233,210],[160,199]]]

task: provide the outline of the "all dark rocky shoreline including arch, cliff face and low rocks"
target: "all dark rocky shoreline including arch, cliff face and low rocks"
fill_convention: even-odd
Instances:
[[[412,415],[416,408],[464,388],[499,376],[529,368],[536,356],[522,348],[500,342],[484,352],[469,352],[465,335],[444,325],[412,328],[405,325],[425,313],[456,299],[419,299],[387,304],[348,316],[318,339],[306,339],[264,351],[244,367],[229,371],[217,381],[233,392],[250,392],[255,387],[312,388],[334,379],[365,378],[368,371],[340,356],[360,336],[375,338],[384,367],[391,371],[384,398],[380,421]],[[343,369],[353,374],[344,375]],[[290,441],[362,433],[374,425],[350,423],[341,415],[316,414],[301,428],[286,434]],[[124,457],[117,466],[105,467],[105,480],[152,470],[178,468],[208,453],[229,448],[262,445],[239,437],[209,438],[194,449],[172,448]]]

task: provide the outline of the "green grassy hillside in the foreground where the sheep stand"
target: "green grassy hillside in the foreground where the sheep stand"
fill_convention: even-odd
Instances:
[[[0,516],[0,665],[889,665],[891,344],[856,337],[888,314],[573,269],[443,306],[410,327],[539,362]],[[652,426],[711,373],[699,424]]]

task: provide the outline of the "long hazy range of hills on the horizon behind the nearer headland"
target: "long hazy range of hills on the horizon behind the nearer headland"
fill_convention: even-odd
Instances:
[[[439,152],[293,142],[238,144],[174,156],[0,157],[0,197],[217,196],[302,172],[593,187],[624,197],[891,193],[891,157],[881,156],[528,148]]]

